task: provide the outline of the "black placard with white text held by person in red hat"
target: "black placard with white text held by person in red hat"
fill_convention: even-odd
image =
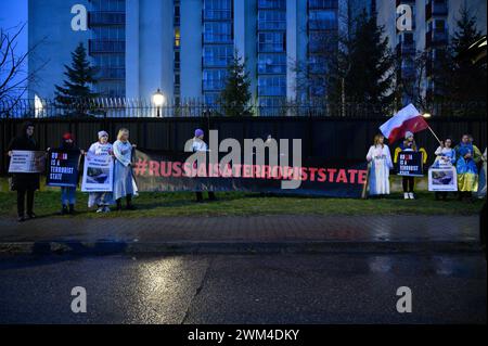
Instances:
[[[46,184],[76,188],[78,185],[79,158],[79,150],[49,150]]]

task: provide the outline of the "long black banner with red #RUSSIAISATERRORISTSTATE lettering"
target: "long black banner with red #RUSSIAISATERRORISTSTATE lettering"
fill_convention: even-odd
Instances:
[[[308,158],[300,167],[230,166],[210,165],[208,157],[202,163],[189,163],[190,155],[136,151],[133,176],[139,191],[245,191],[360,197],[367,179],[365,162]],[[286,183],[298,187],[286,189]]]

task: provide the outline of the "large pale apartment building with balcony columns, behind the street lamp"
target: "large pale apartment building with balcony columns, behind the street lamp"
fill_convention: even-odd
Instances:
[[[75,4],[88,11],[87,30],[70,28]],[[150,100],[159,89],[175,103],[215,103],[234,52],[246,61],[260,105],[324,95],[323,39],[334,42],[347,13],[373,8],[359,0],[29,0],[29,46],[42,42],[29,56],[39,76],[29,97],[53,98],[79,42],[106,98]],[[310,76],[305,91],[297,64]]]

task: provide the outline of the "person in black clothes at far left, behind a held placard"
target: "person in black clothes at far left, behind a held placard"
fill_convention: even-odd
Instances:
[[[39,145],[34,139],[34,124],[25,123],[17,137],[9,144],[9,156],[14,150],[38,151]],[[39,189],[39,174],[17,172],[12,175],[12,191],[17,192],[17,215],[18,221],[25,221],[25,196],[27,195],[27,218],[34,219],[34,193]]]

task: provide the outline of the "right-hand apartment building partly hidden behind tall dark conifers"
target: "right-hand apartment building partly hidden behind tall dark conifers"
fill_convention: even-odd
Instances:
[[[408,5],[411,10],[410,29],[397,27],[397,20],[404,14],[402,11],[397,13],[400,5]],[[486,35],[486,0],[376,0],[378,24],[385,27],[390,49],[397,53],[401,63],[397,80],[420,76],[419,91],[426,100],[432,99],[436,92],[433,72],[457,29],[457,21],[463,8],[476,16],[478,30]],[[415,57],[420,54],[424,54],[426,62],[421,75],[419,60],[415,63]],[[403,104],[411,101],[409,95],[402,95]]]

